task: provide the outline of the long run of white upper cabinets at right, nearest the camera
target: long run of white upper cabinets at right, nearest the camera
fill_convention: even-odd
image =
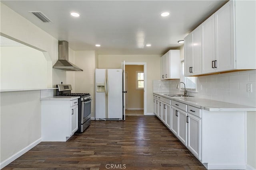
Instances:
[[[199,48],[193,46],[197,45],[194,31],[198,28],[185,37],[185,76],[256,69],[255,5],[255,1],[230,0],[199,25],[201,72],[196,70],[200,62],[194,58],[198,56]]]

